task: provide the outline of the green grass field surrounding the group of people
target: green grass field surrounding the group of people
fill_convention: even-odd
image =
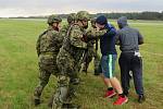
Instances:
[[[115,24],[115,21],[112,23]],[[83,106],[82,109],[163,109],[163,22],[130,21],[130,25],[140,29],[146,41],[140,47],[146,102],[137,102],[131,82],[129,102],[113,106],[115,98],[102,98],[104,85],[100,77],[92,75],[90,64],[89,74],[80,74],[84,83],[79,86],[77,102]],[[39,75],[35,45],[46,27],[46,21],[41,20],[0,19],[0,109],[48,109],[55,77],[51,77],[39,107],[34,107],[32,100]],[[116,74],[120,77],[118,65]]]

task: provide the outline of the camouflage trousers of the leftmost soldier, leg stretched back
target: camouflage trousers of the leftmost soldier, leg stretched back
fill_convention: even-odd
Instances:
[[[42,90],[45,86],[48,84],[51,74],[55,76],[59,75],[59,69],[57,65],[57,55],[52,53],[40,55],[38,64],[40,75],[39,75],[39,84],[37,85],[34,92],[35,99],[40,99]]]

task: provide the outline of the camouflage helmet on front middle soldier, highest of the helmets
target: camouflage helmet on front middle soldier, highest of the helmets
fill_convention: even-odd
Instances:
[[[89,21],[89,13],[87,11],[79,11],[76,14],[76,19],[80,21]]]

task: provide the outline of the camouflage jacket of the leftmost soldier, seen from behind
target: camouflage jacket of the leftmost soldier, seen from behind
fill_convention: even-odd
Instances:
[[[42,34],[39,35],[36,50],[37,55],[45,52],[58,53],[62,47],[64,34],[62,32],[54,31],[51,26],[48,27]]]

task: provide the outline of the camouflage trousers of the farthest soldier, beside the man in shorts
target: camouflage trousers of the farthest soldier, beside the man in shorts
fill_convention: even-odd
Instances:
[[[98,71],[99,63],[100,63],[100,55],[96,52],[93,47],[88,48],[88,50],[85,51],[84,53],[84,60],[83,60],[83,70],[87,72],[87,69],[89,66],[89,63],[91,62],[93,58],[93,68],[95,68],[95,73]]]

